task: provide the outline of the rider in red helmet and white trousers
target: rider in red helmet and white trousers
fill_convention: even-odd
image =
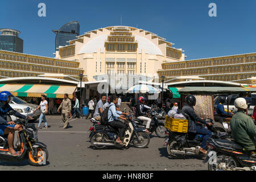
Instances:
[[[141,121],[146,121],[147,125],[146,125],[146,132],[148,134],[151,134],[150,131],[148,131],[148,129],[150,128],[150,123],[151,123],[151,119],[145,117],[145,115],[147,115],[146,113],[144,113],[144,109],[151,109],[151,107],[148,107],[147,105],[145,105],[146,102],[146,98],[144,97],[139,97],[139,102],[136,105],[136,112],[135,112],[135,117]]]

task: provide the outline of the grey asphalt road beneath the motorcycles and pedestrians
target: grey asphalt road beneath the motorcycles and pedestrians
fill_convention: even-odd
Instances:
[[[40,129],[39,141],[47,145],[48,165],[33,167],[22,163],[0,162],[2,170],[206,170],[201,159],[168,158],[164,139],[151,136],[148,148],[109,148],[93,150],[89,142],[89,119],[71,119],[71,128],[61,130],[60,116],[47,115],[48,129]],[[43,126],[43,123],[42,123]]]

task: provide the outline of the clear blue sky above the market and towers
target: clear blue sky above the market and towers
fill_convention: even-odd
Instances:
[[[38,16],[38,4],[46,4],[46,17]],[[217,17],[210,17],[210,3]],[[0,28],[19,30],[24,53],[53,57],[55,34],[72,20],[80,34],[101,27],[122,25],[142,28],[175,43],[187,60],[256,52],[256,1],[60,1],[2,0]]]

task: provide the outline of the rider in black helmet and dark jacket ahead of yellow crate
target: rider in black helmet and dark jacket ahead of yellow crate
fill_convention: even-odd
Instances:
[[[196,97],[192,95],[188,95],[185,98],[186,104],[182,107],[182,111],[189,116],[192,122],[189,122],[189,129],[188,132],[197,133],[200,135],[203,135],[203,142],[201,143],[200,152],[203,154],[207,154],[207,151],[205,150],[207,148],[207,141],[212,136],[212,132],[208,129],[205,129],[201,125],[201,123],[205,125],[211,126],[212,123],[208,123],[204,121],[204,119],[201,119],[194,111],[193,106],[196,105]]]

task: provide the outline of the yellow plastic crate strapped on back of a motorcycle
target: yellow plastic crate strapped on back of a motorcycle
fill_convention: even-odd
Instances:
[[[166,115],[164,127],[170,131],[188,133],[188,119],[175,119]]]

